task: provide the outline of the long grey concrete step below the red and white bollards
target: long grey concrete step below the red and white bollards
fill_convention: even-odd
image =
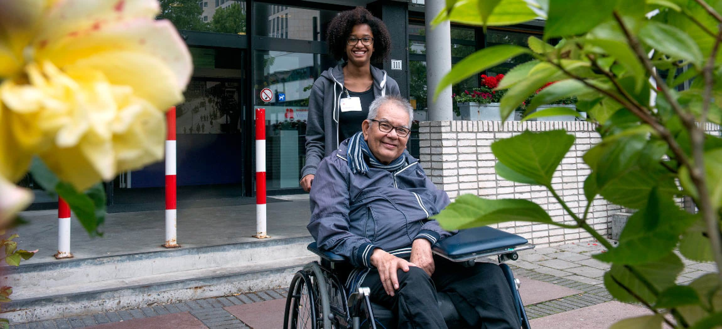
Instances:
[[[25,323],[287,287],[295,271],[318,258],[306,251],[310,241],[266,240],[20,266],[7,275],[17,286],[0,317]]]

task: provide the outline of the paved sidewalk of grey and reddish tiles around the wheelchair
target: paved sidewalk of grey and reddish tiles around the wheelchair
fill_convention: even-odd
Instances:
[[[625,317],[649,313],[643,307],[614,301],[606,292],[602,276],[609,266],[591,258],[603,250],[594,242],[557,245],[522,252],[519,261],[509,262],[521,281],[521,297],[532,328],[606,329]],[[679,283],[716,270],[713,263],[684,259],[684,264]],[[287,289],[274,289],[11,328],[281,328],[286,294]]]

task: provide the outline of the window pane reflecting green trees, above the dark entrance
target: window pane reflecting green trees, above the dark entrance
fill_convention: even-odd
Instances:
[[[168,19],[178,30],[245,34],[245,2],[196,0],[160,1],[157,19]],[[199,4],[197,6],[196,4]]]

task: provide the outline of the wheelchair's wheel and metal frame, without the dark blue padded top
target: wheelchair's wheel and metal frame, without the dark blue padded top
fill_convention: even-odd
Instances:
[[[487,227],[490,228],[490,227]],[[448,256],[439,248],[433,252],[451,261],[466,262],[473,266],[477,258],[497,256],[499,266],[509,284],[521,328],[530,329],[529,319],[518,292],[519,281],[514,279],[510,267],[504,261],[516,261],[518,251],[534,248],[526,243],[492,250],[481,250],[460,257]],[[319,261],[305,264],[291,280],[284,312],[284,329],[360,329],[362,318],[373,319],[373,310],[368,297],[368,288],[360,287],[348,294],[336,275],[336,263],[344,261],[342,256],[319,251],[316,243],[308,250],[320,256]],[[376,328],[375,321],[369,321],[369,328]]]

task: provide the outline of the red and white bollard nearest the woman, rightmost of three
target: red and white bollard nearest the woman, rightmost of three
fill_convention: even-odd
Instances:
[[[266,235],[266,109],[256,109],[256,235]]]

